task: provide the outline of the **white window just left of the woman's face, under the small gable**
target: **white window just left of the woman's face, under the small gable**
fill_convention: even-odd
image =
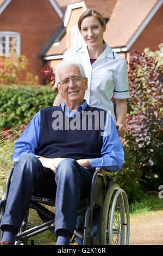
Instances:
[[[77,25],[71,28],[70,33],[71,33],[71,48],[80,48],[85,44]]]

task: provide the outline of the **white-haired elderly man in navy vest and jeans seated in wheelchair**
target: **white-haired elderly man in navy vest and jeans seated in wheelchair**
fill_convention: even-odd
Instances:
[[[40,110],[14,146],[12,160],[16,165],[1,222],[1,245],[14,245],[32,194],[55,197],[57,245],[69,245],[79,200],[88,196],[95,168],[118,171],[123,163],[112,118],[84,100],[87,78],[82,66],[61,63],[55,78],[63,102]],[[91,114],[96,115],[93,118]],[[90,117],[92,124],[88,125]]]

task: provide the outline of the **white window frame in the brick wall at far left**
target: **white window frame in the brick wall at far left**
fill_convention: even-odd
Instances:
[[[0,31],[0,37],[5,38],[5,51],[4,56],[9,56],[10,51],[10,37],[16,37],[17,38],[17,45],[16,45],[16,53],[18,55],[21,55],[21,34],[17,32],[11,32],[11,31]],[[0,43],[0,55],[3,55],[3,46]]]

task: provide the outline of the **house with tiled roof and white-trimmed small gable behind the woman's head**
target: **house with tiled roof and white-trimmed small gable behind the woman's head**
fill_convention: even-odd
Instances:
[[[66,3],[70,4],[67,5]],[[82,37],[77,28],[79,16],[86,9],[95,9],[106,20],[104,40],[129,61],[130,52],[142,52],[146,47],[155,51],[163,43],[162,0],[58,0],[65,15],[63,24],[41,52],[44,61],[54,69],[65,50],[80,47]]]

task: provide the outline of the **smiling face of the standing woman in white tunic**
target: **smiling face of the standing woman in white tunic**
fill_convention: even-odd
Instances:
[[[103,45],[105,29],[106,26],[102,27],[95,16],[89,16],[82,21],[80,33],[88,47],[97,47]]]

